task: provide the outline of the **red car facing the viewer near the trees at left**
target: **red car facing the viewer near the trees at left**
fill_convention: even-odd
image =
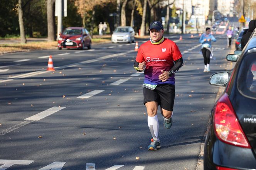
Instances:
[[[77,48],[84,49],[87,47],[91,49],[91,35],[88,30],[83,27],[68,27],[58,38],[58,48]]]

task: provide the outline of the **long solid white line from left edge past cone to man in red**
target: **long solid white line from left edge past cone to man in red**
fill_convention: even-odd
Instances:
[[[103,57],[99,57],[99,58],[92,59],[92,60],[86,60],[86,61],[79,62],[79,63],[63,65],[63,66],[60,66],[60,67],[55,67],[54,69],[55,70],[61,70],[63,68],[67,68],[67,67],[74,67],[74,65],[82,65],[82,64],[85,64],[85,63],[92,63],[92,62],[97,62],[99,60],[104,60],[104,59],[107,59],[107,58],[117,57],[117,56],[120,56],[120,55],[126,55],[126,54],[131,53],[131,52],[134,52],[134,50],[130,50],[130,51],[127,51],[127,52],[122,52],[122,53],[111,54],[111,55],[106,55],[106,56],[103,56]],[[44,74],[44,73],[47,73],[47,72],[52,72],[52,71],[42,70],[42,71],[25,73],[25,74],[21,74],[21,75],[17,75],[17,76],[8,77],[8,78],[5,78],[5,79],[0,79],[0,83],[9,82],[9,81],[19,79],[19,78],[32,77],[34,75],[40,75],[40,74]]]

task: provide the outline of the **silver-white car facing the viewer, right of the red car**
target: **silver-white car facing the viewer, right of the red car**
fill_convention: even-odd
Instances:
[[[135,41],[135,32],[132,27],[116,27],[113,34],[111,35],[112,43],[124,42],[132,43]]]

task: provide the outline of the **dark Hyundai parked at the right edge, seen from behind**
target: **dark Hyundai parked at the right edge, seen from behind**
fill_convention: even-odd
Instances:
[[[241,55],[229,54],[232,72],[211,76],[211,85],[226,86],[215,103],[205,139],[204,170],[256,168],[256,37]]]

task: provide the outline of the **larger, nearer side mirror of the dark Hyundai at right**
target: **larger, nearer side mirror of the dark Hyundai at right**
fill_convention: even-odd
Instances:
[[[214,73],[209,80],[210,85],[226,86],[229,80],[229,72]]]

